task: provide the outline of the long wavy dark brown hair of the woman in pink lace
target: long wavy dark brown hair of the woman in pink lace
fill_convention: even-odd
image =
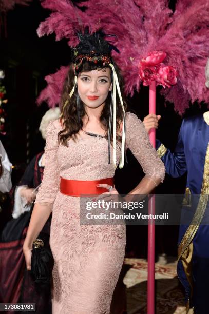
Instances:
[[[121,89],[121,94],[123,97],[123,105],[126,112],[127,104],[124,98],[123,94],[123,77],[121,75],[121,72],[118,68],[118,66],[115,64],[115,62],[112,60],[112,64],[115,67],[116,73],[118,75],[119,85]],[[109,67],[106,65],[105,67],[102,64],[95,64],[92,62],[84,61],[80,72],[87,72],[91,70],[102,70],[106,71],[105,68]],[[109,67],[110,68],[110,67]],[[111,68],[110,68],[111,69]],[[112,70],[111,70],[112,73]],[[69,139],[72,139],[76,141],[77,134],[80,129],[83,127],[83,121],[82,117],[87,115],[85,111],[84,103],[80,99],[80,121],[78,121],[78,112],[77,112],[77,91],[75,90],[72,97],[69,97],[69,93],[72,90],[74,86],[74,71],[72,63],[69,65],[69,71],[67,74],[67,77],[64,82],[63,91],[62,91],[62,97],[61,97],[61,110],[68,100],[67,105],[64,107],[62,118],[63,118],[63,130],[58,133],[59,141],[65,145],[67,145],[67,141]],[[78,96],[79,97],[79,96]],[[103,110],[101,112],[100,116],[100,123],[102,125],[102,128],[105,130],[105,137],[107,138],[108,135],[108,126],[109,126],[109,113],[110,113],[110,102],[111,102],[111,91],[109,91],[109,94],[107,96],[107,99],[105,101],[105,106],[103,107]],[[117,133],[120,130],[120,123],[123,121],[123,110],[122,106],[120,104],[120,100],[117,93]],[[121,136],[117,134],[117,140],[121,141]],[[111,128],[111,142],[113,141],[113,129]]]

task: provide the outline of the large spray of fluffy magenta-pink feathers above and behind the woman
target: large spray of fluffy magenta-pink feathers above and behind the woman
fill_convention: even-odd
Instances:
[[[178,72],[177,85],[162,90],[165,99],[173,102],[179,113],[188,107],[189,100],[209,102],[204,73],[209,57],[208,1],[179,0],[174,13],[167,0],[89,0],[84,5],[85,12],[70,0],[43,0],[42,6],[52,13],[40,24],[39,36],[55,32],[56,40],[67,38],[68,45],[74,46],[78,43],[74,30],[85,25],[90,24],[92,30],[102,27],[107,34],[115,34],[114,44],[120,54],[113,52],[113,56],[122,70],[125,92],[131,96],[140,90],[140,60],[149,52],[162,50],[167,54],[164,64]],[[54,106],[58,99],[54,93],[53,85],[48,83],[42,100],[47,99]]]

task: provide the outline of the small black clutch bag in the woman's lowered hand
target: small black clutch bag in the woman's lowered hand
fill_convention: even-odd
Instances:
[[[32,245],[31,276],[36,285],[50,286],[54,259],[50,247],[44,246],[41,239]]]

